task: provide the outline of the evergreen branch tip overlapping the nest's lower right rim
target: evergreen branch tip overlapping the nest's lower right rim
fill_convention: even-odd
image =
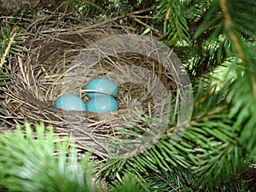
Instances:
[[[170,97],[170,102],[172,101]],[[178,106],[178,96],[176,105]],[[112,148],[118,148],[126,154],[113,157],[100,167],[101,177],[115,178],[117,172],[131,172],[143,179],[148,172],[159,173],[160,170],[172,172],[172,167],[189,167],[189,162],[184,158],[189,154],[188,143],[176,142],[173,136],[173,127],[180,116],[179,108],[169,108],[171,121],[154,118],[152,114],[140,113],[137,119],[139,124],[128,123],[130,129],[118,128],[115,137],[108,137]],[[176,129],[178,129],[176,127]],[[162,131],[167,131],[163,136]],[[123,136],[120,139],[116,138]],[[150,139],[148,139],[150,138]],[[191,147],[190,147],[191,148]]]

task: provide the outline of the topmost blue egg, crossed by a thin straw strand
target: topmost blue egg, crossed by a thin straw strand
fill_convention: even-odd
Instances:
[[[90,90],[87,92],[87,96],[93,98],[95,96],[105,96],[103,93],[96,93],[93,90],[100,90],[103,92],[107,92],[112,94],[113,96],[117,96],[119,94],[119,88],[116,84],[114,84],[111,80],[103,79],[103,78],[95,78],[91,79],[88,84],[85,86],[85,90]]]

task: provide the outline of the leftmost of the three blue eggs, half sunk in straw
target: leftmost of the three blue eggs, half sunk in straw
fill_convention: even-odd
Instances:
[[[79,96],[73,94],[59,96],[55,102],[55,107],[67,110],[86,111],[84,101]]]

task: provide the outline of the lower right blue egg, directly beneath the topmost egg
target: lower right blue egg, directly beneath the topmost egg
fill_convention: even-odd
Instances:
[[[94,113],[106,113],[119,109],[119,102],[113,96],[95,96],[87,102],[87,110]]]

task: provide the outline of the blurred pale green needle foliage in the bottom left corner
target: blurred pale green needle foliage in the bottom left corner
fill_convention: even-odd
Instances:
[[[0,183],[9,191],[97,191],[89,155],[80,162],[67,139],[61,142],[52,128],[26,124],[26,135],[6,132],[0,138]],[[67,155],[68,152],[68,155]]]

